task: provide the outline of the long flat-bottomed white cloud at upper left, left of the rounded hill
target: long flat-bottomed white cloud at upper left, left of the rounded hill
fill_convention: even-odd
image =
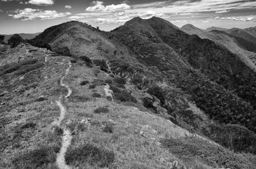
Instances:
[[[58,13],[55,10],[38,10],[32,8],[25,8],[24,10],[15,10],[13,11],[15,14],[9,14],[10,17],[17,18],[20,20],[47,20],[54,18],[67,17],[71,15],[71,13]]]

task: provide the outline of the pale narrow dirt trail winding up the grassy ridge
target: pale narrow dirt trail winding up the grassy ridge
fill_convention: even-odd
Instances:
[[[66,84],[63,84],[63,80],[68,75],[68,72],[71,66],[72,66],[72,63],[69,61],[68,68],[65,71],[65,75],[61,78],[61,81],[60,81],[60,85],[68,89],[68,94],[65,96],[65,98],[68,98],[72,93],[72,90],[70,89],[70,87],[68,87],[68,85]],[[61,103],[61,98],[62,98],[62,95],[60,96],[58,101],[56,100],[56,105],[60,108],[60,117],[58,118],[58,121],[54,122],[54,124],[58,125],[59,127],[60,127],[61,121],[63,121],[65,114],[67,112],[66,108]],[[70,167],[65,162],[65,154],[71,143],[72,135],[68,128],[61,127],[61,129],[63,129],[63,135],[62,135],[61,149],[60,149],[60,152],[57,154],[57,158],[56,158],[56,164],[60,169],[70,169]]]

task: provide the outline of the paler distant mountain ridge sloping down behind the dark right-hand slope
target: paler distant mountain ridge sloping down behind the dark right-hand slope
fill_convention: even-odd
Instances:
[[[244,61],[252,70],[256,70],[256,54],[246,50],[244,47],[250,45],[253,46],[250,41],[232,36],[224,31],[213,30],[209,32],[204,32],[198,29],[195,26],[185,25],[182,28],[182,31],[188,34],[196,34],[200,38],[207,38],[211,41],[214,41],[216,44],[226,47],[230,52],[237,54],[242,61]]]

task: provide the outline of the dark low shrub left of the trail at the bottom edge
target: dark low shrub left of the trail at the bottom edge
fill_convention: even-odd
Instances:
[[[15,168],[19,169],[41,168],[50,163],[55,163],[56,152],[58,151],[60,151],[58,147],[42,147],[18,156],[13,159],[12,163]]]

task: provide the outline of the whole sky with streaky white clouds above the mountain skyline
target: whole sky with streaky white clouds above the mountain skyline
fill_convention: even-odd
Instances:
[[[38,33],[70,20],[110,31],[153,16],[178,27],[255,27],[256,0],[0,0],[0,34]]]

